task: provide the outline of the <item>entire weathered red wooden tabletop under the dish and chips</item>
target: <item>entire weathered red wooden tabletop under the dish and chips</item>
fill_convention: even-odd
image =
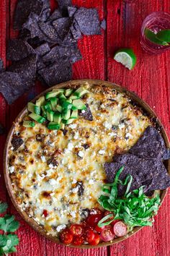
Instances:
[[[28,0],[29,1],[29,0]],[[16,0],[0,0],[0,56],[6,63],[6,40],[17,33],[12,30],[12,17]],[[73,79],[92,78],[109,80],[133,90],[158,114],[170,137],[170,51],[159,56],[145,54],[140,48],[140,26],[143,19],[153,11],[170,12],[169,0],[134,0],[123,4],[123,0],[74,0],[79,7],[95,7],[101,19],[106,18],[107,30],[102,35],[84,37],[79,41],[83,60],[74,64]],[[56,7],[51,1],[51,7]],[[132,47],[138,62],[129,71],[112,59],[120,47]],[[45,88],[37,84],[29,94],[8,106],[0,95],[0,121],[7,131],[24,105]],[[0,137],[1,177],[0,200],[9,204],[9,212],[20,221],[18,231],[19,256],[168,256],[170,255],[170,200],[166,195],[153,227],[145,227],[130,239],[111,247],[99,249],[70,249],[43,238],[25,223],[14,209],[6,192],[2,171],[2,155],[6,135]]]

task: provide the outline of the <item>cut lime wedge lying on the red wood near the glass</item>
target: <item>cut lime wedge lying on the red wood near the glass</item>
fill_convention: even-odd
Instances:
[[[136,56],[132,49],[122,48],[115,53],[115,61],[120,62],[128,69],[133,69],[136,63]]]

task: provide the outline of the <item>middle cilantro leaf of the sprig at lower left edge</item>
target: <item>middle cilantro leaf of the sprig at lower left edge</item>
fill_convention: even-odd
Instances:
[[[14,220],[14,216],[6,214],[4,218],[0,218],[0,229],[4,230],[5,232],[14,232],[18,228],[19,222]]]

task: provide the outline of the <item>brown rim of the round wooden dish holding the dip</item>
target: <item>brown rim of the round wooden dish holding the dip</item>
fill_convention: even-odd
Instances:
[[[37,97],[34,100],[32,100],[32,102],[35,102],[37,100],[37,98],[40,98],[41,95],[45,95],[45,93],[48,93],[50,90],[53,90],[54,88],[76,88],[76,87],[79,87],[79,85],[82,85],[82,83],[84,83],[84,82],[89,82],[90,85],[109,86],[111,88],[114,88],[114,89],[116,89],[116,90],[118,90],[118,91],[128,95],[132,99],[132,101],[134,103],[136,103],[136,105],[138,107],[143,109],[143,111],[145,111],[146,114],[151,117],[151,119],[156,121],[156,124],[158,125],[158,127],[160,127],[161,135],[164,138],[164,141],[165,141],[165,144],[166,144],[166,148],[170,147],[169,139],[168,139],[168,137],[166,135],[165,129],[162,126],[161,121],[158,119],[158,117],[154,113],[154,111],[150,108],[150,106],[148,106],[148,104],[145,101],[143,101],[142,99],[138,98],[138,96],[135,95],[135,93],[132,93],[129,90],[120,87],[119,85],[115,85],[112,82],[106,82],[106,81],[102,81],[102,80],[73,80],[73,81],[63,82],[60,85],[55,85],[55,86],[53,86],[53,88],[49,88],[48,90],[45,90],[40,95],[37,95]],[[27,107],[25,107],[19,113],[19,115],[17,116],[17,119],[15,119],[15,121],[14,121],[14,123],[12,125],[12,128],[9,131],[9,135],[8,135],[8,137],[6,139],[6,145],[5,145],[5,148],[4,148],[4,177],[5,177],[5,182],[6,182],[6,188],[7,188],[8,192],[9,192],[9,197],[11,198],[11,200],[12,200],[15,208],[19,212],[19,214],[22,216],[22,218],[24,218],[24,221],[27,221],[27,223],[30,226],[32,226],[33,229],[35,229],[37,232],[39,232],[42,236],[45,236],[46,238],[52,240],[53,242],[61,244],[61,242],[58,240],[57,237],[48,235],[46,233],[46,231],[41,226],[39,226],[32,218],[27,216],[27,214],[24,213],[24,211],[22,211],[19,208],[19,205],[17,204],[17,202],[16,202],[16,200],[14,198],[14,194],[12,192],[12,184],[11,184],[11,180],[10,180],[10,177],[9,177],[9,171],[8,171],[8,168],[7,168],[8,167],[8,150],[9,150],[10,142],[12,140],[12,135],[13,135],[13,132],[14,132],[15,124],[18,121],[21,121],[22,117],[25,114],[27,114]],[[170,173],[170,161],[165,161],[165,166],[166,166],[167,171],[169,171],[169,173]],[[161,202],[163,202],[164,197],[166,195],[166,189],[162,190],[160,192],[160,195],[161,195]],[[133,234],[138,232],[140,229],[142,229],[142,227],[136,227],[135,229],[133,229],[133,231],[128,233],[128,235],[126,235],[126,236],[122,236],[122,237],[116,238],[112,242],[102,242],[102,243],[98,244],[95,247],[104,247],[104,246],[107,246],[107,245],[116,244],[118,242],[121,242],[122,240],[128,239],[128,237],[130,237],[130,236],[133,236]],[[68,247],[76,247],[76,246],[68,245]],[[79,248],[93,248],[93,247],[94,246],[91,246],[89,244],[83,244],[83,245],[79,246]]]

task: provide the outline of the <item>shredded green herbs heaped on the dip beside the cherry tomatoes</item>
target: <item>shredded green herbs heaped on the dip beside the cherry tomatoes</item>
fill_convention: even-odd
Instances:
[[[120,181],[119,176],[123,171],[122,166],[115,176],[115,181],[111,184],[104,184],[103,191],[105,195],[99,197],[99,204],[105,210],[112,211],[114,214],[109,214],[99,221],[98,226],[106,226],[114,220],[121,219],[132,230],[134,226],[152,226],[153,216],[158,212],[160,205],[160,197],[147,197],[143,193],[143,187],[130,192],[130,186],[133,182],[133,176],[128,175],[125,182]],[[126,192],[123,197],[117,196],[117,184],[126,186]],[[107,219],[115,216],[114,219]],[[106,222],[107,221],[107,222]]]

